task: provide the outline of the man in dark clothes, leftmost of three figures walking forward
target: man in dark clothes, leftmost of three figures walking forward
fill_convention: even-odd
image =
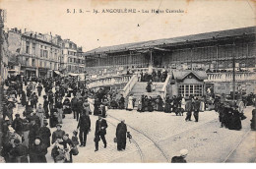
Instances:
[[[87,135],[91,131],[91,119],[89,115],[86,115],[86,113],[82,113],[78,122],[77,129],[80,129],[79,131],[79,140],[81,142],[80,146],[86,146]]]

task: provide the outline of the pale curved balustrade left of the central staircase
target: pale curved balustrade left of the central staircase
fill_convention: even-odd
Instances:
[[[99,78],[88,82],[89,88],[100,87],[105,85],[114,85],[114,84],[126,84],[130,81],[130,75],[120,75],[120,76],[111,76]]]

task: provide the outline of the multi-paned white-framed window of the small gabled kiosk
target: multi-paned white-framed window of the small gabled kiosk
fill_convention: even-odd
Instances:
[[[179,94],[184,97],[202,96],[204,91],[203,84],[179,84]]]

